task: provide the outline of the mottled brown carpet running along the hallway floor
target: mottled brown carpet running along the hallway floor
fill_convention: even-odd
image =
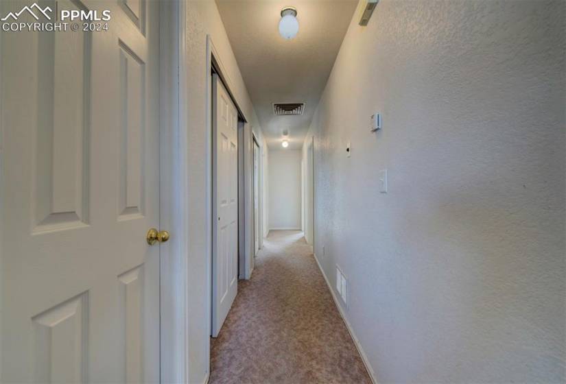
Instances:
[[[209,383],[371,383],[302,232],[270,232],[212,340]]]

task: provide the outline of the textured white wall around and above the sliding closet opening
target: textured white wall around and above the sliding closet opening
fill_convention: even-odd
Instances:
[[[186,107],[187,136],[189,148],[186,156],[189,163],[189,174],[185,180],[188,191],[189,211],[186,220],[189,224],[187,243],[188,254],[188,280],[189,291],[187,301],[189,305],[187,326],[189,328],[188,354],[189,354],[189,383],[202,383],[209,372],[209,326],[210,326],[210,257],[211,257],[211,231],[210,223],[210,172],[207,161],[211,158],[211,133],[207,129],[207,110],[210,108],[207,100],[207,77],[210,69],[207,68],[207,34],[211,36],[213,43],[224,64],[226,75],[230,80],[229,86],[234,97],[242,108],[246,118],[246,138],[248,149],[246,153],[246,164],[250,165],[250,126],[253,126],[255,134],[260,138],[261,129],[257,116],[253,109],[248,91],[241,78],[236,59],[226,36],[222,19],[218,13],[216,3],[211,0],[191,0],[186,5],[186,51],[187,51],[187,73],[185,73],[185,91],[187,93],[188,105]],[[246,180],[248,191],[251,182]],[[250,196],[246,199],[250,202]],[[250,204],[248,204],[250,206]],[[250,217],[250,211],[246,212]],[[249,220],[248,220],[249,221]],[[248,226],[248,228],[250,228]],[[249,235],[246,244],[251,245]],[[250,249],[250,246],[248,246]]]

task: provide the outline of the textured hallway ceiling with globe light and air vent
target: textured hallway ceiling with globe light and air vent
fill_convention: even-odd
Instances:
[[[300,148],[352,19],[357,0],[216,0],[239,69],[270,147]],[[279,35],[281,8],[297,9],[299,30]],[[274,116],[273,103],[303,102],[303,116]]]

